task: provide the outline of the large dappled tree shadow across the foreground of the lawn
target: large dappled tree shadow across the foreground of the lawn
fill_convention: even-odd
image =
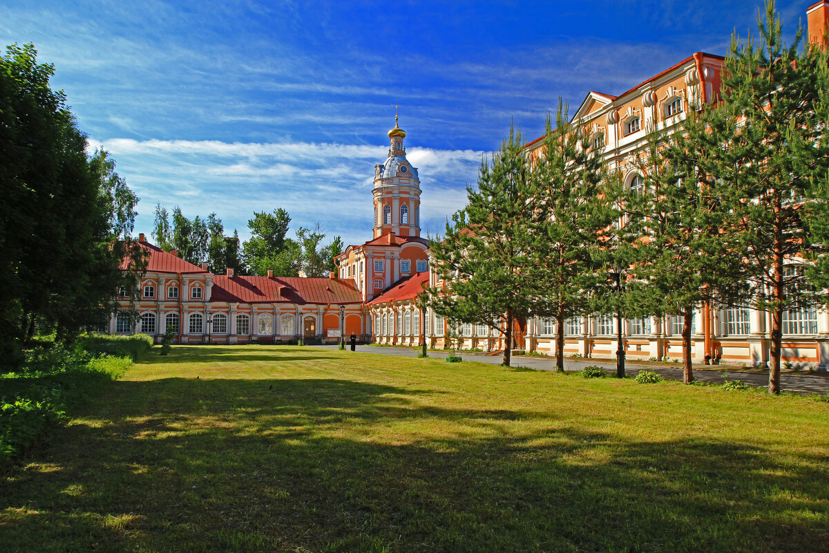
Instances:
[[[829,551],[825,458],[431,395],[118,381],[2,480],[0,533],[12,551]]]

